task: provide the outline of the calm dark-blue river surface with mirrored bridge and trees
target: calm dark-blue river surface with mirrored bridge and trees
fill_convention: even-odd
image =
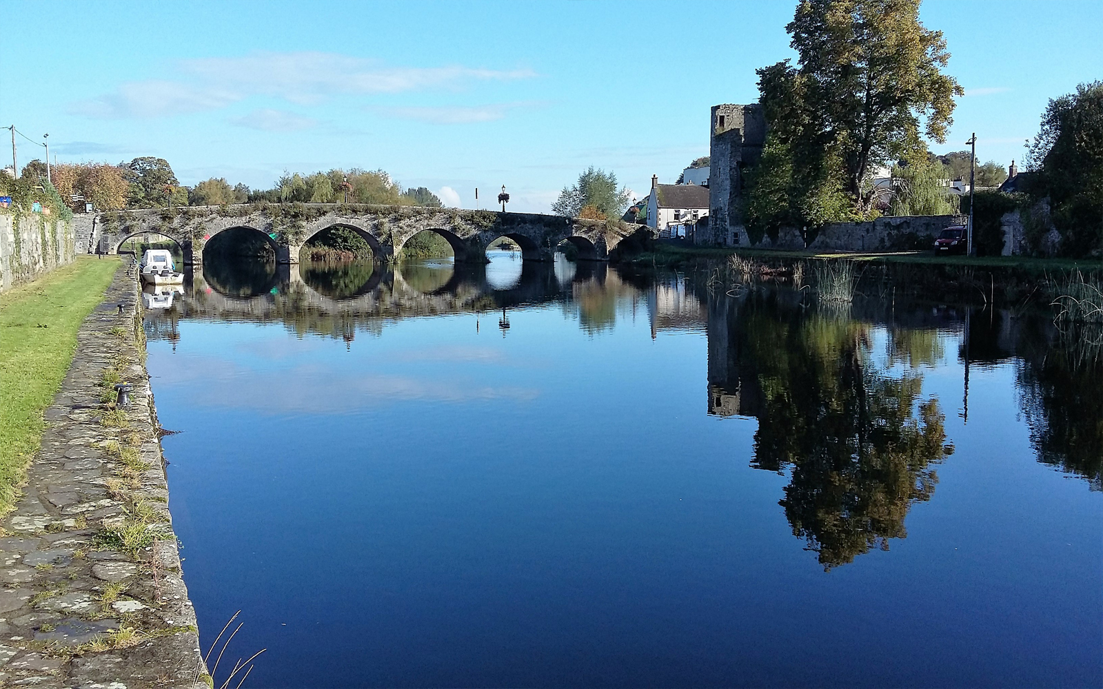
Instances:
[[[204,271],[148,365],[249,686],[1103,686],[1103,359],[1045,314]]]

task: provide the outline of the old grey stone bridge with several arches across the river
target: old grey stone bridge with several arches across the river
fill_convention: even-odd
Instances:
[[[351,204],[248,204],[186,206],[105,212],[92,219],[89,246],[97,254],[117,254],[127,239],[161,235],[180,246],[184,262],[203,262],[203,248],[218,234],[246,228],[258,233],[276,251],[280,263],[299,262],[299,250],[314,235],[331,227],[356,232],[372,247],[376,259],[390,260],[407,240],[429,230],[451,245],[458,262],[485,262],[486,247],[508,237],[525,260],[554,258],[564,240],[587,260],[608,260],[622,239],[640,225],[583,220],[534,213],[461,211],[425,206]]]

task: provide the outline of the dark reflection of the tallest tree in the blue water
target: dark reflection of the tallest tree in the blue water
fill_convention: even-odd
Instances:
[[[791,471],[780,505],[793,534],[825,570],[887,550],[889,539],[907,536],[912,503],[930,499],[934,465],[949,450],[945,415],[922,399],[922,376],[880,368],[871,326],[843,314],[808,315],[775,301],[738,311],[728,334],[739,341],[727,357],[740,378],[736,403],[759,420],[752,465]],[[930,360],[933,342],[897,346]]]

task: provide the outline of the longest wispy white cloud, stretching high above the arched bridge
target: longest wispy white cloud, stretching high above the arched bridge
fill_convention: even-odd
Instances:
[[[255,53],[179,63],[176,79],[127,82],[114,91],[77,101],[69,110],[97,119],[149,118],[212,110],[250,96],[317,104],[351,94],[394,94],[430,88],[459,89],[471,82],[536,76],[532,69],[393,67],[336,53]]]

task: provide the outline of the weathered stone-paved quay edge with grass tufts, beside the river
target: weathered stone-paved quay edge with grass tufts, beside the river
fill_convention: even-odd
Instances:
[[[210,680],[129,270],[82,324],[24,495],[0,519],[0,686],[205,689]],[[118,378],[133,386],[126,409],[111,399]]]

